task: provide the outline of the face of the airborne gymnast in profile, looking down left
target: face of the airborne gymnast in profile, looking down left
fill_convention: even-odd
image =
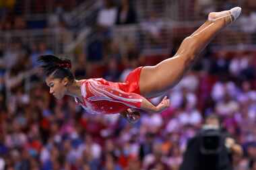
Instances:
[[[64,97],[67,91],[67,78],[54,78],[52,75],[45,79],[46,85],[50,87],[50,93],[57,99]]]

